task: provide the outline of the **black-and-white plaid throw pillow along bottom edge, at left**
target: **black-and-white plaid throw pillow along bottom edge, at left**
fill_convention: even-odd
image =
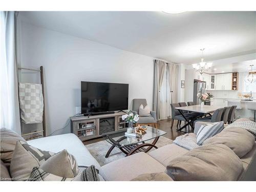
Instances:
[[[83,170],[75,178],[59,177],[54,174],[50,174],[40,167],[34,167],[29,181],[99,181],[99,177],[94,165]]]

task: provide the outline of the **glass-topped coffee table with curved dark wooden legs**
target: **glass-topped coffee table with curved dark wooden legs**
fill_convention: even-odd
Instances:
[[[146,127],[147,130],[146,133],[141,137],[125,136],[125,131],[102,134],[102,137],[110,144],[112,144],[108,153],[106,153],[105,158],[109,157],[110,153],[112,150],[114,150],[115,147],[119,148],[120,151],[123,152],[126,156],[139,152],[147,153],[153,147],[157,148],[155,145],[156,142],[158,141],[159,137],[165,135],[166,132],[151,126],[143,127]],[[154,140],[151,143],[145,143],[146,141],[152,139]]]

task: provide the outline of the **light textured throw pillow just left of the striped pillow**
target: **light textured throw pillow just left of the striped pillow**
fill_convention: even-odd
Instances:
[[[174,143],[185,148],[186,150],[192,150],[193,148],[200,146],[197,144],[197,137],[194,133],[186,133],[185,135],[176,137]]]

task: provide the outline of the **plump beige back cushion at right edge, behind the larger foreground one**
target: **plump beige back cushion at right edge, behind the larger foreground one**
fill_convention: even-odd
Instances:
[[[241,158],[251,151],[254,145],[254,137],[241,127],[230,127],[204,141],[204,144],[210,143],[225,144]]]

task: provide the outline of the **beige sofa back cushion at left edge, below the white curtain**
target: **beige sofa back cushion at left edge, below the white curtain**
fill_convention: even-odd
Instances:
[[[26,142],[26,141],[24,138],[22,138],[22,136],[6,128],[0,129],[0,139],[1,139],[1,160],[9,167],[16,142],[17,141]]]

